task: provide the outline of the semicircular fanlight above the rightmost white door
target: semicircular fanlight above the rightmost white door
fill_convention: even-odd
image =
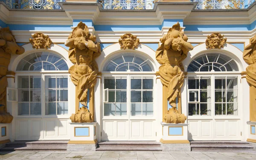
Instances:
[[[208,53],[193,59],[189,64],[188,72],[225,72],[238,71],[234,59],[223,54]]]

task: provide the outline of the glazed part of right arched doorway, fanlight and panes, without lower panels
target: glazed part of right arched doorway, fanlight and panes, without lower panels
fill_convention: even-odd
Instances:
[[[189,116],[238,115],[238,71],[235,60],[220,53],[193,59],[187,69]]]

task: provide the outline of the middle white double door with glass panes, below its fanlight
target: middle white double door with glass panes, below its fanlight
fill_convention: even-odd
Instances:
[[[102,140],[155,140],[154,76],[103,76]]]

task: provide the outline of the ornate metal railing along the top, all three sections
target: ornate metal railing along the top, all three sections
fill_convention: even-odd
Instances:
[[[14,9],[61,9],[59,2],[66,0],[0,0]],[[162,0],[98,0],[102,9],[153,9],[156,2]],[[255,0],[190,0],[197,2],[195,9],[244,9]]]

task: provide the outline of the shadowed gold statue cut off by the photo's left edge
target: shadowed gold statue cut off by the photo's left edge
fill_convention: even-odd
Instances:
[[[6,108],[7,69],[12,54],[22,54],[25,49],[16,43],[9,27],[0,29],[0,123],[9,124],[13,116]]]

